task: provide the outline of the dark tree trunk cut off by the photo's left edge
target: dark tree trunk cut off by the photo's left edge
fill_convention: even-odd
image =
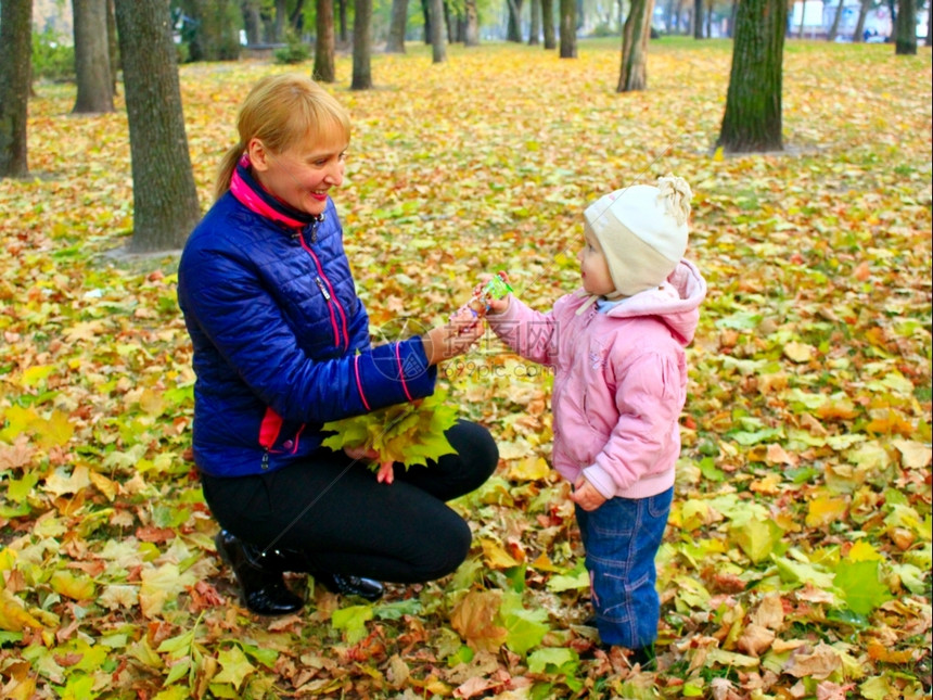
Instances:
[[[29,175],[26,123],[33,65],[33,0],[0,2],[0,178]]]

